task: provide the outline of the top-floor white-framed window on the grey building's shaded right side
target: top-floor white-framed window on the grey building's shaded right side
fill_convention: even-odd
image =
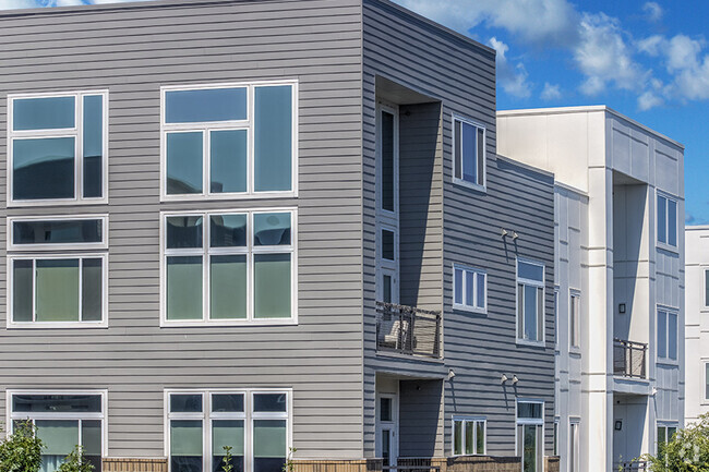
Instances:
[[[482,124],[453,116],[454,182],[484,190],[485,134]]]

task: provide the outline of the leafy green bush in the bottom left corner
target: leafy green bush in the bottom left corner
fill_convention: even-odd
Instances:
[[[0,472],[37,472],[41,467],[41,439],[29,421],[21,422],[0,444]]]

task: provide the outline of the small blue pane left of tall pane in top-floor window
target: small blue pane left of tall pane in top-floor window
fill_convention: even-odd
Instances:
[[[247,130],[211,133],[209,189],[214,193],[247,191]]]

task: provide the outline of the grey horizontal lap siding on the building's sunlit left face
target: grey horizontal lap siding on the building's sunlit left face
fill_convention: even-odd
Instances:
[[[0,153],[5,94],[110,90],[109,205],[1,205],[109,214],[110,327],[1,329],[2,388],[107,388],[109,455],[151,457],[164,455],[164,388],[292,387],[297,457],[361,458],[360,12],[312,0],[0,15]],[[299,80],[299,198],[160,204],[159,87],[284,77]],[[273,206],[299,207],[298,326],[159,328],[159,211]],[[3,223],[2,251],[5,238]],[[0,265],[3,325],[5,279]]]

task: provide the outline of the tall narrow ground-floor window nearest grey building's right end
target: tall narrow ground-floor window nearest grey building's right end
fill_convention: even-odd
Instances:
[[[517,400],[517,456],[521,456],[522,472],[543,472],[544,403]]]

